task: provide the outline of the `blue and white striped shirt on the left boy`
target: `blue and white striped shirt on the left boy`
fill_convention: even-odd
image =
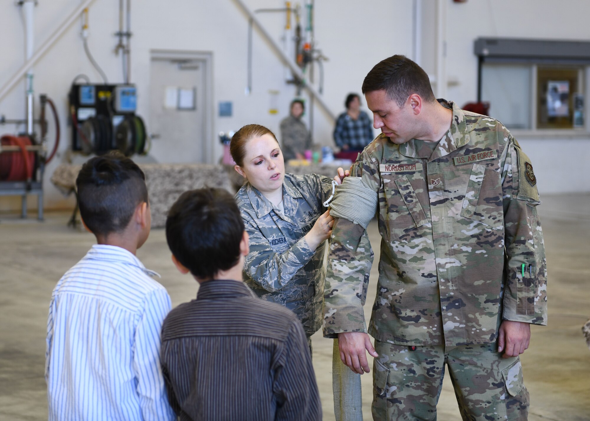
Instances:
[[[49,420],[173,420],[160,369],[165,288],[129,251],[94,245],[53,290]]]

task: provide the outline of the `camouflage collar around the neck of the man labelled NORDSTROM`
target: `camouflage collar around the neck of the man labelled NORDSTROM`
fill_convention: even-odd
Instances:
[[[457,106],[453,101],[439,99],[438,102],[445,108],[453,110],[453,118],[451,119],[451,127],[447,134],[438,142],[429,161],[435,160],[442,156],[448,155],[461,146],[465,146],[470,141],[469,133],[467,133],[467,123],[465,121],[465,114],[463,110]],[[405,156],[418,158],[418,152],[414,143],[414,139],[409,142],[399,145],[399,152]]]

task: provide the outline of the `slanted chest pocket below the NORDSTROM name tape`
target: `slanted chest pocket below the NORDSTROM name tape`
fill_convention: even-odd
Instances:
[[[392,177],[395,175],[392,174]],[[379,208],[387,226],[389,241],[400,238],[412,229],[428,223],[424,209],[407,176],[401,176],[395,180],[386,180],[383,177],[383,188],[387,206]]]

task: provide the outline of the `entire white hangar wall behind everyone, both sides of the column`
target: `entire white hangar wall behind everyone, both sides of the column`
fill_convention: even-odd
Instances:
[[[35,45],[54,31],[55,25],[69,14],[80,0],[40,0],[36,11]],[[281,7],[280,0],[245,0],[251,9]],[[303,0],[299,0],[303,2]],[[434,0],[422,1],[422,65],[434,73]],[[563,38],[586,40],[590,27],[586,17],[590,2],[563,0],[470,0],[455,4],[447,0],[447,74],[458,85],[448,87],[448,98],[463,105],[476,98],[477,60],[473,41],[480,36]],[[288,112],[295,94],[293,85],[284,83],[284,67],[266,42],[255,31],[253,48],[253,91],[245,96],[247,63],[247,17],[233,0],[142,0],[132,2],[132,72],[131,80],[139,90],[138,113],[149,125],[150,50],[212,51],[214,76],[214,132],[236,130],[247,123],[265,124],[278,131],[280,120]],[[113,54],[117,31],[119,0],[95,0],[90,8],[89,44],[109,81],[122,81],[120,58]],[[261,14],[260,20],[279,41],[284,18],[280,14]],[[24,62],[24,34],[20,8],[5,0],[0,4],[0,85]],[[366,73],[373,65],[392,54],[412,51],[412,1],[409,0],[316,0],[315,36],[323,54],[329,57],[325,67],[324,99],[332,112],[343,111],[349,92],[360,93]],[[94,81],[99,75],[84,55],[80,24],[71,25],[35,65],[35,91],[47,93],[58,105],[61,115],[62,144],[60,155],[47,169],[47,208],[73,206],[50,182],[55,166],[64,160],[69,131],[65,117],[67,92],[78,73]],[[316,70],[317,80],[317,70]],[[280,91],[280,113],[268,113],[268,90]],[[0,101],[0,114],[7,118],[24,116],[24,83]],[[218,101],[234,103],[233,117],[217,117]],[[306,118],[309,118],[307,116]],[[22,127],[21,127],[22,129]],[[332,123],[319,106],[314,108],[314,139],[332,144]],[[14,126],[0,126],[0,133],[14,133]],[[50,133],[51,139],[52,133]],[[585,158],[590,154],[590,140],[530,139],[520,137],[525,151],[535,165],[541,192],[590,191],[582,175]],[[165,142],[165,139],[155,142]],[[221,147],[211,139],[217,156]],[[557,145],[557,147],[556,147]],[[556,150],[558,149],[558,150]],[[556,153],[557,152],[557,153]],[[559,152],[561,152],[559,154]],[[575,152],[575,153],[572,153]],[[181,153],[181,152],[179,152]],[[569,172],[558,170],[565,163]],[[559,158],[559,157],[563,158]],[[158,160],[158,156],[154,156]],[[561,160],[560,160],[561,159]],[[30,200],[34,207],[34,200]],[[19,199],[0,198],[0,210],[18,209]]]

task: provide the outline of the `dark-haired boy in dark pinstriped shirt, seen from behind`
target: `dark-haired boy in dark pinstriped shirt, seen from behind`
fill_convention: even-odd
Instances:
[[[181,420],[322,419],[301,323],[242,282],[248,234],[224,189],[183,193],[166,220],[172,261],[199,282],[162,327],[162,370]]]

